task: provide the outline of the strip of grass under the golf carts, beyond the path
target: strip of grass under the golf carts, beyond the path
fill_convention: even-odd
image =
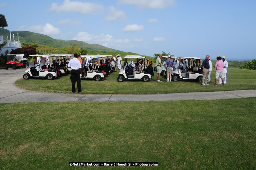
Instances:
[[[213,86],[215,83],[215,68],[212,69],[211,82],[208,86],[191,80],[179,80],[167,83],[167,79],[161,76],[159,83],[156,81],[156,72],[152,81],[117,81],[119,72],[111,73],[104,81],[82,80],[81,94],[165,94],[184,92],[226,91],[256,89],[256,71],[239,68],[228,68],[227,83],[225,86]],[[70,75],[48,81],[47,79],[19,79],[15,85],[32,91],[65,93],[72,92]],[[77,91],[77,90],[76,90]]]

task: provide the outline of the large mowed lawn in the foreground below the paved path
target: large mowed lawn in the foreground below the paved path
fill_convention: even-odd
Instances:
[[[1,103],[0,169],[255,169],[255,99]]]

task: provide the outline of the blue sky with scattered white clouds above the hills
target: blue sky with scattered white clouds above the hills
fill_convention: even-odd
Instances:
[[[252,60],[255,7],[255,0],[2,0],[0,13],[10,31],[148,56],[164,51],[176,57]]]

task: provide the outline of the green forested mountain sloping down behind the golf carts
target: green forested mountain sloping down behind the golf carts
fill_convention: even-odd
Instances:
[[[2,29],[4,39],[7,39],[7,36],[10,36],[10,31],[7,29]],[[105,46],[99,45],[99,44],[88,44],[83,41],[77,41],[77,40],[62,40],[62,39],[53,39],[47,35],[29,32],[29,31],[12,31],[11,32],[11,39],[13,40],[13,34],[14,38],[17,41],[17,33],[19,33],[19,41],[20,42],[26,42],[26,43],[37,43],[40,45],[45,46],[52,46],[54,48],[60,49],[65,46],[71,46],[73,44],[78,44],[79,47],[84,47],[86,49],[89,49],[91,51],[106,51],[106,52],[122,52],[119,50],[115,50],[112,48],[107,48]],[[9,37],[10,40],[10,37]]]

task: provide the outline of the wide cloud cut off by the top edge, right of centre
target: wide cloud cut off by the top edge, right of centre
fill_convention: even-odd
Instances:
[[[120,4],[137,5],[139,8],[162,9],[175,6],[176,0],[119,0]]]

